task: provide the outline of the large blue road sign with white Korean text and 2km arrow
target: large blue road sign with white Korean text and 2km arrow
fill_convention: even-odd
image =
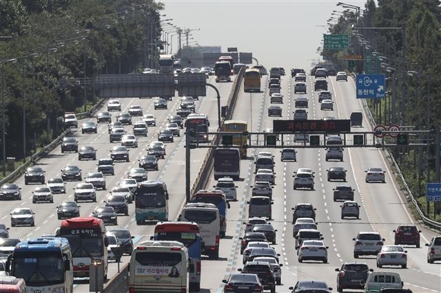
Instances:
[[[357,98],[384,98],[384,74],[357,74]]]

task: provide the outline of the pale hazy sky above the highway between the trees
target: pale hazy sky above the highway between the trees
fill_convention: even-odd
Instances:
[[[174,25],[193,30],[199,45],[238,47],[252,52],[265,67],[309,69],[317,63],[322,34],[333,10],[344,10],[334,0],[162,0]],[[364,9],[365,0],[344,3]],[[198,30],[199,29],[199,30]],[[173,41],[177,49],[177,38]]]

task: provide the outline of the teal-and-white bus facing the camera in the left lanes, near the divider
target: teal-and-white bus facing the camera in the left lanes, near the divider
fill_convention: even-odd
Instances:
[[[168,191],[165,182],[147,180],[139,183],[134,198],[137,225],[145,221],[168,221]]]

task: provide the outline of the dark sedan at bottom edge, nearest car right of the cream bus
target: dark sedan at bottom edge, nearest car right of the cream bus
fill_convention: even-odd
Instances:
[[[225,283],[224,293],[263,292],[263,286],[257,274],[229,274],[228,279],[224,279],[222,282]]]

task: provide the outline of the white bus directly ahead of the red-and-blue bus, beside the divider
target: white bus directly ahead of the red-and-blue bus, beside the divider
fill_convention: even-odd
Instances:
[[[214,204],[186,204],[179,221],[197,223],[204,243],[203,254],[210,259],[219,258],[220,218]]]

